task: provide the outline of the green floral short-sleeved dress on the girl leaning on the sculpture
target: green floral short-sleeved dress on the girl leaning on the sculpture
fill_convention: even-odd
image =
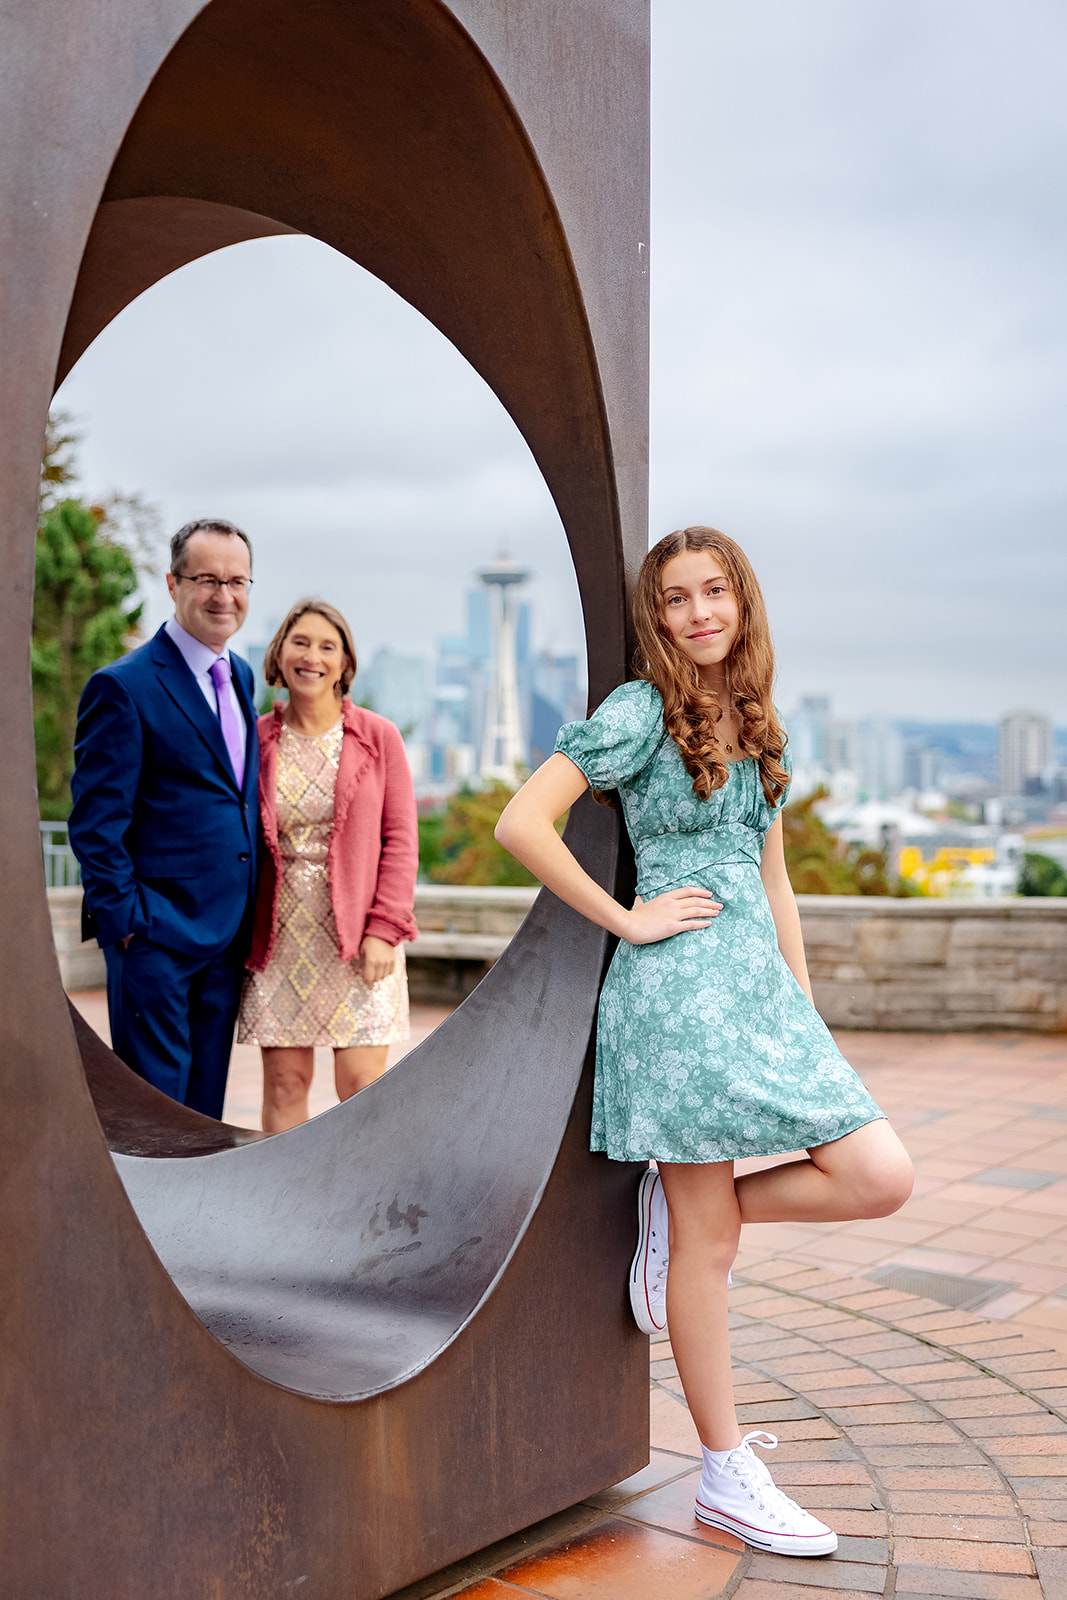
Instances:
[[[881,1117],[777,949],[760,878],[777,810],[757,762],[733,762],[699,800],[651,683],[624,683],[555,747],[593,789],[619,790],[643,899],[701,885],[723,904],[707,928],[619,941],[600,997],[590,1149],[726,1162]]]

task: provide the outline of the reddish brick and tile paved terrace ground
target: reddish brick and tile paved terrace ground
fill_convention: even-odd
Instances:
[[[643,1472],[394,1600],[1067,1600],[1067,1042],[838,1038],[915,1195],[878,1222],[747,1229],[731,1299],[742,1427],[777,1434],[774,1475],[837,1555],[760,1555],[693,1520],[699,1445],[661,1341]],[[227,1115],[256,1098],[245,1062]],[[1001,1288],[952,1310],[864,1277],[886,1266]]]

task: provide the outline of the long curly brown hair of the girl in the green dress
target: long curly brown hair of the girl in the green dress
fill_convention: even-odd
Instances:
[[[763,794],[771,805],[776,805],[785,792],[789,774],[782,766],[785,734],[771,702],[774,682],[771,630],[749,558],[725,533],[715,528],[681,528],[678,533],[669,533],[645,557],[633,592],[637,677],[654,683],[659,690],[664,723],[681,750],[685,768],[693,778],[693,792],[707,800],[729,776],[717,731],[725,707],[713,690],[704,688],[696,662],[689,661],[670,637],[662,602],[662,570],[675,555],[688,550],[707,550],[721,562],[723,574],[729,579],[737,602],[739,627],[726,659],[726,691],[741,717],[737,746],[744,755],[755,755],[758,760]]]

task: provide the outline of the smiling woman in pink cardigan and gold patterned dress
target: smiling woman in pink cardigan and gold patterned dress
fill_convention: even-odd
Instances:
[[[262,1126],[280,1133],[307,1122],[315,1045],[349,1099],[408,1037],[419,843],[398,728],[346,698],[355,650],[336,606],[298,600],[262,670],[290,698],[259,718],[266,850],[237,1037],[261,1046]]]

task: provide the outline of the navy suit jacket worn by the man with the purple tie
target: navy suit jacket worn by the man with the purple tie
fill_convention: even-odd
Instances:
[[[102,946],[139,933],[210,958],[250,926],[259,739],[251,667],[230,661],[248,730],[240,787],[219,718],[163,629],[85,685],[69,829]]]

